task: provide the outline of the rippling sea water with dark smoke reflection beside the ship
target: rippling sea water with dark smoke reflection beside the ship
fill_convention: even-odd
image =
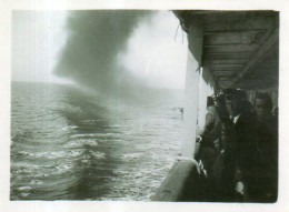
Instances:
[[[180,153],[182,102],[12,82],[10,199],[149,201]]]

